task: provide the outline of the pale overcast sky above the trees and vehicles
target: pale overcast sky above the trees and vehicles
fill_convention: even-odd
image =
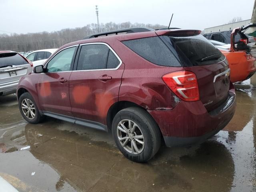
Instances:
[[[174,13],[172,27],[203,30],[236,16],[251,19],[254,0],[0,0],[0,33],[52,32],[96,23],[96,4],[100,23],[168,25]]]

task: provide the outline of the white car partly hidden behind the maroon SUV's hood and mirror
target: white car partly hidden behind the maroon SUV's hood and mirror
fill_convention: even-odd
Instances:
[[[33,66],[38,66],[44,64],[44,62],[58,49],[42,49],[34,51],[26,58],[33,63]]]

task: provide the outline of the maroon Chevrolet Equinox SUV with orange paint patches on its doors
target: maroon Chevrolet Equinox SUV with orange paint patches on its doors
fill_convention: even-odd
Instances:
[[[66,44],[20,79],[17,97],[26,121],[112,130],[136,162],[150,160],[162,139],[204,142],[236,108],[228,62],[198,30],[134,28]]]

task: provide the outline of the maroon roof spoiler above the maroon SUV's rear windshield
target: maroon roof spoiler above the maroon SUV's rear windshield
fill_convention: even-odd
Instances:
[[[156,34],[158,36],[168,35],[168,36],[194,36],[200,34],[200,30],[158,30]]]

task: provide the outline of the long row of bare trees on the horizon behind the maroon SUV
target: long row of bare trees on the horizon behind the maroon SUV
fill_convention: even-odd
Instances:
[[[153,29],[164,28],[166,26],[159,24],[143,24],[124,22],[116,24],[108,22],[100,24],[100,32],[111,31],[117,29],[131,28],[131,27],[149,27]],[[0,50],[13,50],[17,52],[27,52],[30,50],[40,50],[48,48],[59,48],[69,42],[82,40],[86,36],[97,33],[98,24],[88,24],[82,28],[62,29],[54,32],[38,32],[28,34],[0,34]]]

